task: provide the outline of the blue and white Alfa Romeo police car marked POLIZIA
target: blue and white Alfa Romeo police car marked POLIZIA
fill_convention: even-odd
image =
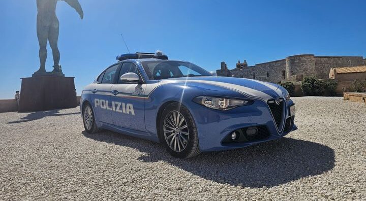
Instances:
[[[117,56],[82,91],[85,130],[108,129],[162,143],[177,158],[247,147],[296,130],[281,86],[217,77],[157,53]]]

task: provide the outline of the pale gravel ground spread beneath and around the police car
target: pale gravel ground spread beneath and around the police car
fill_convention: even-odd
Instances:
[[[366,199],[366,106],[293,98],[298,130],[181,160],[160,144],[84,132],[79,109],[0,114],[0,200]]]

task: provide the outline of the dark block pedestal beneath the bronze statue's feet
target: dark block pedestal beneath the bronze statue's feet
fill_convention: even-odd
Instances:
[[[73,77],[22,78],[19,112],[74,108],[77,105]]]

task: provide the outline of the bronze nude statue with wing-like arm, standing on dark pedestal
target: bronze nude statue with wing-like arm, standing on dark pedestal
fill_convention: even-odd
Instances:
[[[59,65],[60,53],[57,47],[59,30],[59,23],[56,16],[57,1],[65,1],[79,13],[81,19],[84,17],[78,0],[37,0],[37,37],[40,45],[39,56],[41,66],[35,74],[46,72],[47,41],[50,44],[53,54],[54,65],[52,73],[62,73],[61,66]]]

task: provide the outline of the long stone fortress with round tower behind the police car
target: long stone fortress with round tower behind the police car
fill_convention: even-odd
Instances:
[[[328,79],[330,68],[366,65],[362,56],[315,56],[301,54],[288,56],[285,59],[269,61],[248,66],[247,61],[238,61],[236,68],[229,70],[225,62],[221,62],[218,76],[250,78],[272,83],[284,81],[298,82],[306,76]]]

